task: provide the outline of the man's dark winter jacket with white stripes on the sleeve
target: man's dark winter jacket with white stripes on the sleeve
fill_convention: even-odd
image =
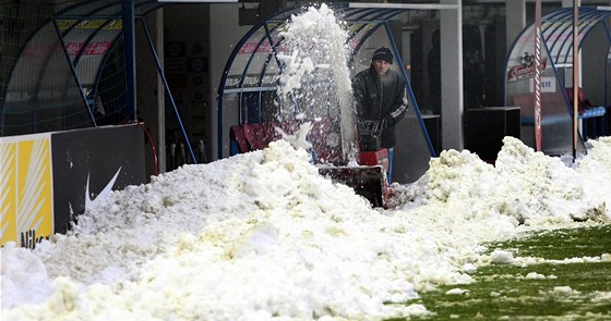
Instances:
[[[405,82],[399,73],[388,70],[379,76],[371,65],[355,76],[352,90],[358,120],[384,120],[381,147],[395,146],[395,125],[409,108]]]

